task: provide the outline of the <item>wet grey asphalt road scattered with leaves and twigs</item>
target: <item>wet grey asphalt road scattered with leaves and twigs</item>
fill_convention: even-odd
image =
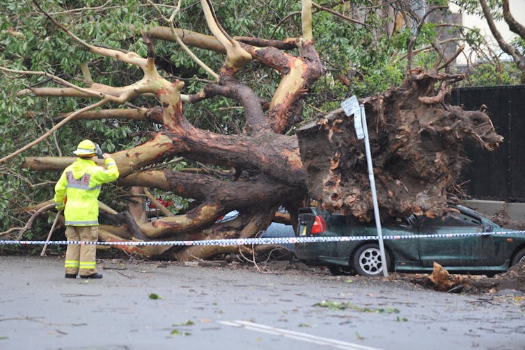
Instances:
[[[0,262],[0,349],[525,349],[510,293],[133,260],[71,280],[57,257]]]

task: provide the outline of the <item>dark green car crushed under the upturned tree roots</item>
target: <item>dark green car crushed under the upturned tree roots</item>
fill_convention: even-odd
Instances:
[[[452,273],[489,276],[525,262],[525,234],[512,232],[463,206],[437,218],[410,215],[382,222],[389,271],[430,272],[434,262]],[[512,232],[512,233],[498,233]],[[460,234],[455,237],[454,234]],[[332,273],[382,275],[375,223],[354,216],[299,210],[297,237],[361,237],[359,240],[296,243],[295,254],[306,263],[328,266]],[[432,237],[428,237],[432,235]],[[393,238],[390,239],[389,237]]]

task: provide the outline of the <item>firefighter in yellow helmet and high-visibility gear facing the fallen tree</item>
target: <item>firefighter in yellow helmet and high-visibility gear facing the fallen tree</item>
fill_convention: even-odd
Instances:
[[[68,241],[98,240],[98,195],[100,186],[118,178],[115,160],[102,154],[105,168],[97,166],[93,157],[102,153],[92,141],[79,143],[77,160],[63,171],[55,186],[55,207],[64,210],[65,237]],[[65,278],[102,278],[97,273],[95,244],[68,244],[65,251]]]

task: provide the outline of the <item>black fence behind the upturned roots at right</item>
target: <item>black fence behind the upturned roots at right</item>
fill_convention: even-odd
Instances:
[[[525,202],[525,86],[457,88],[450,104],[477,111],[483,105],[505,141],[494,152],[465,145],[471,164],[463,189],[471,198]]]

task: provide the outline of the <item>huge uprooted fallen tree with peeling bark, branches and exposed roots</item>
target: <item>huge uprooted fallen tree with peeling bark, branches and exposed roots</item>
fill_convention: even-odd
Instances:
[[[124,209],[117,212],[101,207],[106,224],[100,226],[103,241],[195,240],[254,237],[274,219],[278,207],[288,209],[295,223],[298,207],[308,198],[319,200],[326,209],[341,210],[369,220],[372,207],[363,145],[357,141],[352,124],[340,110],[332,111],[304,127],[299,137],[289,134],[303,119],[304,97],[325,74],[315,50],[311,27],[311,1],[302,1],[302,35],[299,38],[264,40],[232,38],[222,28],[211,1],[201,6],[211,35],[175,29],[175,8],[166,27],[142,31],[146,57],[92,45],[77,37],[38,6],[42,15],[76,45],[97,57],[126,63],[141,70],[143,77],[126,86],[109,86],[91,79],[75,85],[42,71],[1,67],[13,77],[45,77],[46,83],[60,86],[30,86],[19,96],[70,97],[93,101],[71,113],[64,113],[35,141],[0,159],[0,163],[29,150],[71,120],[141,120],[159,125],[148,140],[132,148],[112,153],[120,171]],[[158,9],[157,9],[158,10]],[[136,31],[130,27],[130,31]],[[185,50],[212,77],[198,93],[182,95],[185,83],[160,74],[153,39],[172,40]],[[188,46],[225,54],[224,65],[213,72],[199,61]],[[295,51],[294,51],[295,50]],[[409,52],[412,57],[412,51]],[[444,57],[441,57],[444,59]],[[239,79],[250,63],[264,65],[280,75],[271,100],[263,100],[255,87]],[[439,69],[438,69],[439,68]],[[460,166],[465,161],[462,142],[471,138],[487,150],[501,142],[489,118],[482,112],[462,111],[450,106],[446,95],[462,77],[435,71],[409,70],[405,81],[386,92],[361,99],[366,106],[375,173],[379,179],[379,205],[383,215],[441,214],[446,209]],[[139,97],[153,97],[156,106],[133,107]],[[242,107],[244,124],[237,133],[219,134],[195,127],[185,116],[185,106],[201,104],[217,97],[234,100]],[[102,109],[117,104],[122,109]],[[81,136],[80,136],[81,137]],[[174,159],[204,164],[198,171],[175,169]],[[22,166],[29,170],[62,170],[70,157],[26,157]],[[192,205],[173,214],[149,189],[191,198]],[[151,220],[148,204],[154,202],[162,216]],[[49,201],[27,207],[38,210]],[[236,209],[233,221],[218,220]],[[205,258],[218,253],[251,247],[219,246],[116,246],[128,253],[144,256],[169,255],[178,260]]]

